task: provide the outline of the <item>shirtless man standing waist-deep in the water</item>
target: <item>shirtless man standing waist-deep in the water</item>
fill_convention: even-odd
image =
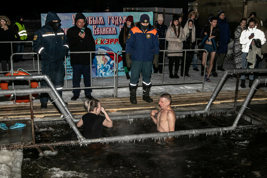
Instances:
[[[176,115],[174,110],[171,108],[171,96],[168,93],[164,93],[160,96],[159,112],[157,110],[152,110],[150,112],[150,117],[153,122],[157,124],[157,129],[160,132],[174,131]],[[155,115],[158,113],[158,116]]]

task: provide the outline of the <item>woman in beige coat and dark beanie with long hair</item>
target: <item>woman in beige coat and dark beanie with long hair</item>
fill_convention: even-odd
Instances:
[[[185,36],[183,35],[183,28],[181,23],[179,22],[179,15],[173,16],[172,23],[169,26],[166,33],[166,40],[168,41],[168,58],[169,58],[169,78],[179,78],[178,70],[180,66],[180,59],[183,56],[182,52],[171,52],[170,50],[182,50],[183,49],[183,41],[185,40]],[[173,63],[174,66],[174,75],[173,75]]]

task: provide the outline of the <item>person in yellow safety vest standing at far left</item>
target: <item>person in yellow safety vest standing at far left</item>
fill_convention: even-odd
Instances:
[[[13,26],[15,32],[15,40],[20,41],[20,43],[16,43],[15,53],[23,53],[25,43],[22,41],[26,41],[27,32],[25,26],[23,24],[23,18],[20,15],[16,16],[16,23]],[[18,54],[14,56],[14,62],[25,61],[22,59],[22,54]]]

